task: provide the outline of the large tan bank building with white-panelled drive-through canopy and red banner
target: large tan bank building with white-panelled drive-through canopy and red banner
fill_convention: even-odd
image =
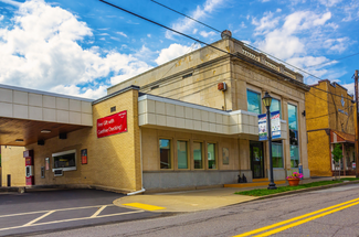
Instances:
[[[27,90],[21,96],[28,99],[21,100],[19,88],[3,88],[12,90],[11,99],[0,96],[7,99],[1,103],[15,108],[22,101],[28,117],[19,123],[18,110],[0,114],[9,125],[23,126],[14,133],[13,125],[0,123],[9,132],[0,133],[1,144],[33,151],[35,185],[133,192],[221,186],[235,183],[239,174],[252,182],[268,179],[267,142],[258,141],[257,126],[257,116],[265,112],[261,98],[268,91],[271,110],[281,114],[282,133],[273,142],[274,179],[285,180],[299,163],[309,177],[303,114],[309,88],[303,76],[234,39],[212,45],[237,56],[202,47],[108,88],[108,95],[95,101]],[[218,90],[222,83],[226,89]],[[32,94],[41,97],[35,106],[30,105]],[[33,107],[41,117],[30,117]],[[124,111],[126,131],[102,134],[99,127],[113,122],[104,123],[104,118]],[[32,122],[32,133],[23,119]],[[3,166],[6,179],[15,168],[7,162]]]

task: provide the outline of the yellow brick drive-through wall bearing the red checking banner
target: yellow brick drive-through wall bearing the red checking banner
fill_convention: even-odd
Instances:
[[[93,128],[70,132],[65,140],[61,140],[57,137],[45,140],[45,146],[27,146],[27,149],[34,150],[35,185],[93,184],[124,191],[140,190],[141,173],[140,151],[138,149],[139,127],[137,99],[138,91],[129,90],[101,101],[93,106]],[[112,115],[110,107],[113,106],[117,108],[113,114],[127,110],[128,131],[105,138],[97,138],[96,121],[98,118]],[[45,166],[45,158],[50,158],[50,168],[52,168],[52,153],[72,149],[75,149],[77,152],[76,171],[65,171],[63,176],[54,176],[50,169],[45,171],[45,177],[41,177],[41,166]],[[87,164],[81,164],[82,149],[87,149]],[[3,164],[7,165],[7,160],[4,160]],[[17,169],[19,169],[18,165],[11,168],[4,166],[4,170]]]

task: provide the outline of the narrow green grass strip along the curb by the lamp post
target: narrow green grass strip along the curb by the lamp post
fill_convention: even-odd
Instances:
[[[329,184],[335,184],[335,183],[342,183],[344,181],[355,181],[359,180],[356,177],[345,177],[340,179],[340,181],[318,181],[318,182],[313,182],[313,183],[307,183],[307,184],[300,184],[298,186],[278,186],[276,190],[267,190],[267,188],[256,188],[256,190],[250,190],[250,191],[242,191],[242,192],[235,192],[234,194],[240,194],[240,195],[249,195],[249,196],[266,196],[271,194],[276,194],[276,193],[284,193],[288,191],[294,191],[294,190],[303,190],[303,188],[308,188],[308,187],[314,187],[314,186],[325,186]]]

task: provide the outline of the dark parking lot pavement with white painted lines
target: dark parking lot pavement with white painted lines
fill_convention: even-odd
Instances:
[[[0,195],[0,236],[54,231],[118,223],[161,214],[118,207],[123,194],[97,190],[57,190]]]

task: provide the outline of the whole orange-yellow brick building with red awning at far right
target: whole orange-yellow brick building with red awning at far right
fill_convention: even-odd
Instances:
[[[319,80],[306,93],[308,164],[313,176],[331,176],[331,151],[341,144],[341,174],[355,174],[355,104],[337,83]]]

